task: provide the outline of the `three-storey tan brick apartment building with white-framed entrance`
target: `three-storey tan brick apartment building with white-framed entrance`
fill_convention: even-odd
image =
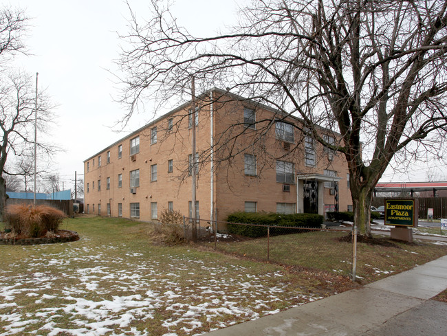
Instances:
[[[298,131],[298,118],[220,89],[204,93],[197,106],[201,219],[221,221],[237,210],[351,210],[345,159]],[[85,212],[146,221],[166,208],[190,216],[190,107],[183,104],[86,159]]]

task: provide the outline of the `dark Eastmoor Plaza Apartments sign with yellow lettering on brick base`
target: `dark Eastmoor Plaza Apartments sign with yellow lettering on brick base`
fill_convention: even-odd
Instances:
[[[415,199],[386,199],[385,225],[391,228],[391,239],[413,241],[413,230],[417,227],[417,206]]]

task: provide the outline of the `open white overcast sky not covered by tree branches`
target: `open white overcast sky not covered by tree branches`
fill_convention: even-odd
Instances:
[[[235,23],[236,0],[177,0],[171,11],[179,25],[190,33],[206,35]],[[7,3],[7,2],[3,2]],[[138,17],[149,17],[149,0],[129,0]],[[134,117],[127,132],[113,131],[124,115],[117,97],[113,60],[120,41],[116,32],[127,32],[129,10],[122,0],[14,0],[32,18],[25,40],[31,56],[19,56],[14,65],[30,74],[39,72],[39,89],[58,104],[53,141],[65,149],[56,156],[54,171],[65,188],[72,187],[74,172],[83,174],[83,161],[143,126],[153,115]],[[116,128],[115,128],[116,129]],[[431,163],[437,179],[447,179],[446,166]],[[426,165],[411,168],[406,175],[386,171],[382,181],[424,181]]]

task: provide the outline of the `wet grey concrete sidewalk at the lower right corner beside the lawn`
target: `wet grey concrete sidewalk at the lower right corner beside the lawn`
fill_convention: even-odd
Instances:
[[[447,335],[447,256],[361,289],[204,335]]]

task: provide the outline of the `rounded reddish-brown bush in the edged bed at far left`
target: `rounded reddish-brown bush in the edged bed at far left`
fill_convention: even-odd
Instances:
[[[56,232],[65,214],[48,205],[13,204],[6,208],[6,223],[14,234],[26,237],[44,236]]]

